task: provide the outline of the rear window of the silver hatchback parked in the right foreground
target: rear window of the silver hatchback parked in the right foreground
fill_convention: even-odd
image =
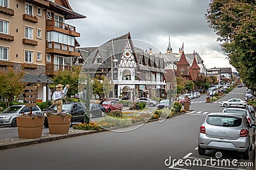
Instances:
[[[209,116],[206,118],[206,123],[222,127],[239,127],[242,124],[242,118]]]

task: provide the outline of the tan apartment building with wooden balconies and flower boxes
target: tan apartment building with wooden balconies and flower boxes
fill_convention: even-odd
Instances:
[[[36,84],[38,99],[46,101],[47,75],[68,66],[80,36],[65,20],[85,18],[68,0],[0,0],[0,68],[24,71],[24,81]],[[49,81],[48,81],[49,82]]]

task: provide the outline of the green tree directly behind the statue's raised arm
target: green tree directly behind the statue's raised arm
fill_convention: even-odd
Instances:
[[[78,92],[78,82],[79,82],[79,74],[81,71],[81,67],[73,66],[72,69],[65,69],[63,71],[59,71],[52,81],[54,85],[62,84],[69,85],[69,89],[67,92],[67,97],[74,96]]]

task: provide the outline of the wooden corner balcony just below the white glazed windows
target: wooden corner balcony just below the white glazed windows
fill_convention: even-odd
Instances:
[[[80,53],[76,52],[75,46],[63,45],[61,43],[48,42],[46,53],[56,53],[67,57],[79,57]]]

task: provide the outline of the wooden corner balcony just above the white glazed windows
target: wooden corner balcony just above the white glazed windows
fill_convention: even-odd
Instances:
[[[76,27],[56,20],[46,21],[46,31],[58,31],[70,36],[80,37],[80,33],[76,32]]]

